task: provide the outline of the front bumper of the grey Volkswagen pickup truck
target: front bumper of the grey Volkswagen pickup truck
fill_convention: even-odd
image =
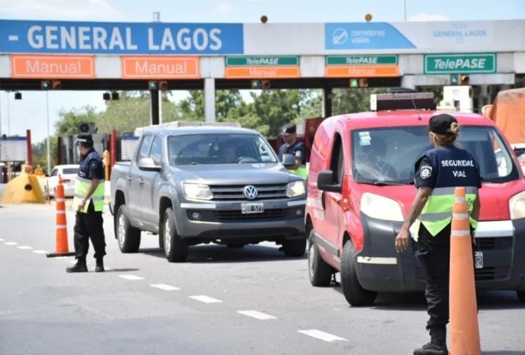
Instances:
[[[258,202],[264,204],[264,212],[243,213],[241,204],[245,202],[181,203],[181,212],[177,213],[177,233],[182,239],[201,242],[306,238],[306,200]]]

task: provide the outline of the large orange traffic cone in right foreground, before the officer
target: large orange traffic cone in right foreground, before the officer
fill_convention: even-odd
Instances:
[[[472,237],[465,187],[456,187],[452,210],[450,331],[451,355],[481,355]]]

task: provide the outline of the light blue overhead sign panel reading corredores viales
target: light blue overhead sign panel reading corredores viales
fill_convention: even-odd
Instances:
[[[414,43],[385,22],[326,23],[326,50],[412,49]]]

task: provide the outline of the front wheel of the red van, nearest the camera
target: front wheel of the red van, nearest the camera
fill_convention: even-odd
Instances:
[[[346,301],[352,306],[368,306],[374,303],[377,293],[365,290],[357,275],[357,256],[352,241],[347,241],[341,256],[341,285]]]

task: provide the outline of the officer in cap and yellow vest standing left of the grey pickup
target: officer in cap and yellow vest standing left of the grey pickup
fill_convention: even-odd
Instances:
[[[94,150],[92,135],[80,133],[77,136],[80,151],[80,166],[74,184],[72,209],[77,211],[74,223],[74,252],[77,263],[67,268],[69,273],[87,272],[86,256],[89,239],[95,250],[96,272],[104,271],[103,258],[106,255],[106,241],[102,211],[104,210],[104,161]]]

